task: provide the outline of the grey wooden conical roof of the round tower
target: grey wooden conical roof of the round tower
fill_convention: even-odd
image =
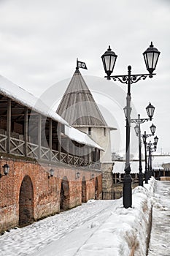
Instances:
[[[108,127],[78,68],[56,112],[73,127]]]

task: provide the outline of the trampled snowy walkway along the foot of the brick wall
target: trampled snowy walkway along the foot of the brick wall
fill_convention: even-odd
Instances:
[[[62,241],[68,234],[68,238],[72,239],[72,230],[77,229],[79,226],[92,225],[94,228],[88,228],[90,232],[93,232],[97,227],[96,218],[108,217],[111,210],[113,211],[117,205],[121,205],[122,200],[91,200],[88,203],[82,204],[77,208],[73,208],[69,211],[64,211],[61,214],[57,214],[47,219],[42,219],[39,222],[27,227],[11,230],[9,233],[5,233],[0,237],[0,255],[1,256],[16,256],[16,255],[41,255],[41,251],[50,246],[53,248],[53,241],[64,248]],[[102,222],[102,219],[100,219]],[[83,230],[81,230],[83,232]],[[86,233],[80,240],[79,231],[77,231],[77,238],[74,237],[72,244],[79,241],[79,245],[83,244],[85,239],[90,236],[90,233]],[[66,243],[66,241],[63,243]],[[68,243],[68,246],[70,243]],[[65,244],[66,246],[66,244]],[[73,246],[72,246],[73,247]],[[69,248],[68,248],[69,249]],[[43,251],[44,252],[44,251]],[[45,253],[49,255],[49,252]],[[62,254],[61,254],[62,255]]]

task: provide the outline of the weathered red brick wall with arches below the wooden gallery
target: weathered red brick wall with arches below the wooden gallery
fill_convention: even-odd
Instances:
[[[68,208],[79,206],[82,203],[83,177],[86,180],[86,200],[95,198],[96,178],[98,179],[97,194],[101,199],[101,173],[67,165],[39,165],[36,162],[18,159],[2,159],[1,173],[3,173],[2,166],[6,162],[10,166],[10,170],[7,176],[0,178],[0,232],[19,225],[20,214],[23,219],[30,216],[28,223],[31,223],[33,219],[38,220],[59,213],[63,178],[67,178],[69,184],[66,201]],[[55,170],[54,176],[48,178],[48,171],[51,167]],[[80,173],[80,178],[76,179],[77,172]],[[90,179],[92,173],[95,177]],[[22,191],[20,187],[24,177],[26,183],[23,184]],[[23,195],[26,195],[26,200],[22,199]],[[23,216],[24,212],[26,216]]]

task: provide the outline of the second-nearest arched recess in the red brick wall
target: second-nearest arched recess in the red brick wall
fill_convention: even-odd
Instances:
[[[69,181],[66,176],[61,181],[61,193],[60,193],[60,211],[66,211],[69,209]]]

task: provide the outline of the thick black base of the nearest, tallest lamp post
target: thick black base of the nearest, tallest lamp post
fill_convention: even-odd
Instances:
[[[131,174],[125,174],[123,178],[123,206],[125,208],[131,207],[132,204],[131,181]]]

